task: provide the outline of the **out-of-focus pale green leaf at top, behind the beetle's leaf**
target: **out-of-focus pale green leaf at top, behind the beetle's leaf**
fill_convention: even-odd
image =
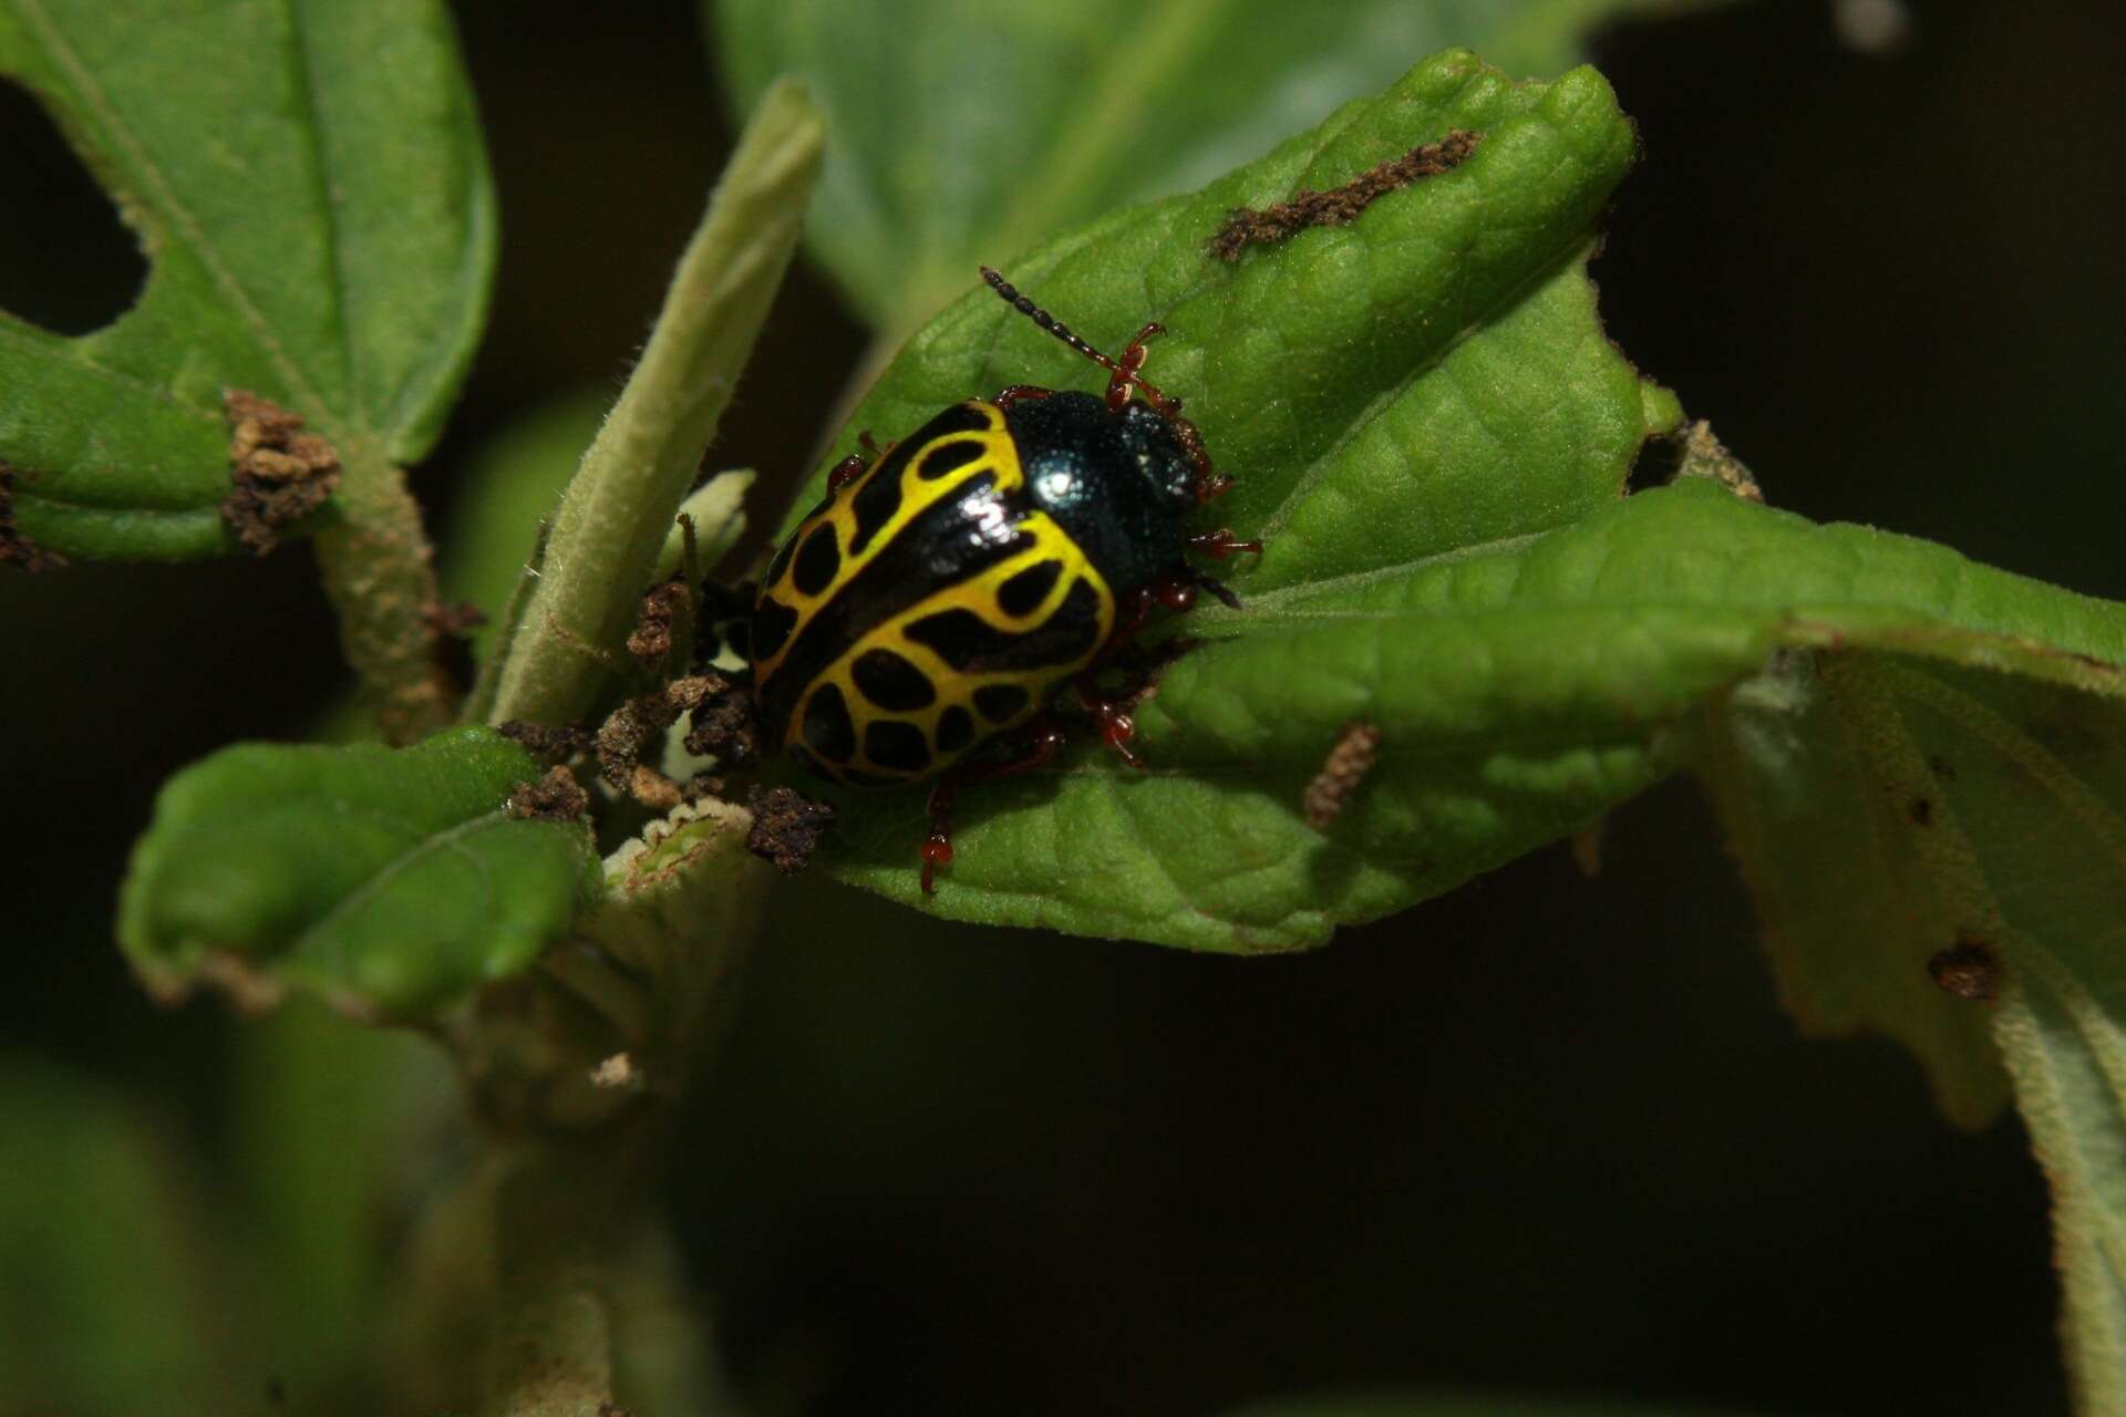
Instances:
[[[1648,0],[723,0],[704,4],[740,110],[784,72],[836,134],[810,244],[884,331],[978,261],[1201,185],[1465,45],[1554,74]],[[1675,8],[1673,4],[1665,8]]]

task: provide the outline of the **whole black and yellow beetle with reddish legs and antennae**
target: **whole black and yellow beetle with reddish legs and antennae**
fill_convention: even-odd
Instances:
[[[748,627],[763,748],[850,786],[935,778],[923,892],[952,860],[959,786],[1052,758],[1065,682],[1131,767],[1135,724],[1097,673],[1154,605],[1237,597],[1184,552],[1261,552],[1188,516],[1231,486],[1182,402],[1148,382],[1144,325],[1110,359],[1003,276],[1014,310],[1108,370],[1106,395],[1012,385],[880,448],[870,431],[776,552]],[[969,756],[1006,735],[1010,756]]]

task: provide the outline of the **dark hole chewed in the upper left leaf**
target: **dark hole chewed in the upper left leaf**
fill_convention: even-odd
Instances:
[[[132,308],[147,257],[45,106],[0,79],[0,310],[89,334]]]

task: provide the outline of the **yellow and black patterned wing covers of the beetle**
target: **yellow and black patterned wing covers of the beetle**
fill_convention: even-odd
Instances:
[[[761,722],[855,786],[944,771],[1114,633],[1116,597],[1027,489],[995,404],[955,404],[833,491],[753,614]]]

